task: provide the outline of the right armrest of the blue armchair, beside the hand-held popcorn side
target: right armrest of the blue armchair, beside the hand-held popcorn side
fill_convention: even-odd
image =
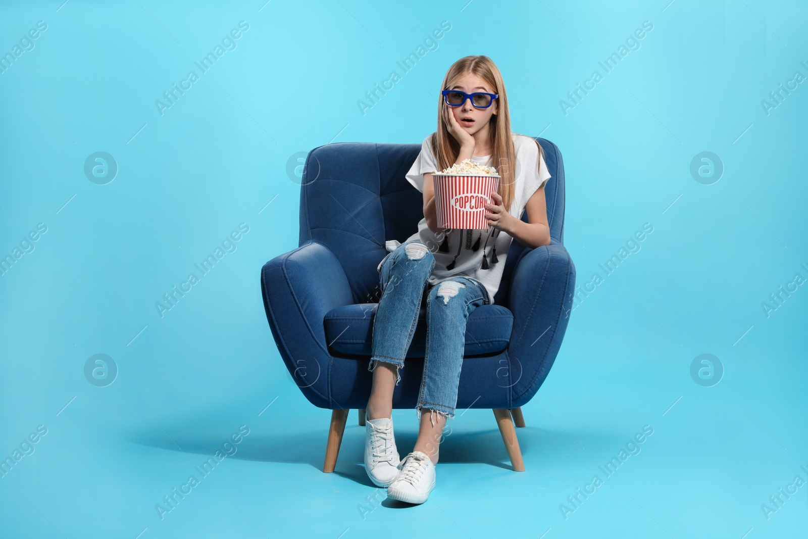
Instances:
[[[512,406],[522,406],[539,390],[561,347],[575,288],[575,266],[553,241],[516,263],[511,283],[513,331],[508,344]]]

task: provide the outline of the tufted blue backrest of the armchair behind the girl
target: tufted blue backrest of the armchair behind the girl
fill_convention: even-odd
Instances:
[[[537,138],[552,177],[545,186],[550,237],[563,244],[564,165],[558,146]],[[336,142],[309,152],[301,181],[300,243],[318,242],[339,259],[354,303],[381,298],[377,264],[385,242],[404,242],[423,219],[423,195],[406,181],[420,144]],[[528,222],[524,212],[522,221]],[[494,303],[507,307],[511,274],[525,247],[511,242]]]

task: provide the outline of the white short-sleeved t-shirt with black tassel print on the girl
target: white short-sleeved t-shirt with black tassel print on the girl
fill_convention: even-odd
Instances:
[[[514,199],[508,213],[517,219],[522,218],[524,213],[525,204],[528,204],[530,197],[537,191],[539,187],[545,184],[547,179],[550,178],[550,173],[547,170],[545,158],[541,155],[538,142],[532,137],[520,135],[517,133],[512,134],[514,149],[516,149],[516,185],[514,191]],[[427,172],[439,171],[435,155],[432,154],[430,144],[431,135],[423,140],[421,145],[421,152],[418,158],[415,159],[410,171],[406,174],[406,179],[410,182],[419,192],[423,192],[423,175]],[[493,166],[490,163],[490,155],[485,156],[472,156],[471,160],[481,165]],[[541,166],[540,163],[541,162]],[[407,238],[405,242],[413,240],[420,240],[429,246],[432,255],[435,258],[435,268],[429,277],[429,284],[438,284],[442,280],[449,277],[462,275],[469,277],[473,280],[478,280],[483,286],[486,287],[490,297],[491,304],[494,303],[494,294],[499,289],[499,283],[502,280],[503,268],[505,267],[505,259],[507,251],[511,246],[512,237],[505,231],[500,230],[499,234],[491,235],[495,232],[494,228],[486,230],[472,230],[470,244],[473,246],[474,242],[480,238],[479,248],[477,251],[467,248],[469,245],[468,230],[465,229],[452,229],[448,234],[441,234],[436,236],[427,226],[427,219],[424,217],[418,223],[418,232]],[[438,251],[438,246],[443,242],[443,238],[448,238],[448,252]],[[486,245],[486,240],[487,245]],[[459,245],[459,243],[461,245]],[[392,253],[401,245],[398,240],[389,240],[385,242],[385,249]],[[483,246],[485,251],[483,251]],[[458,247],[460,247],[460,254],[457,255]],[[491,263],[491,251],[496,250],[497,263]],[[482,256],[485,252],[488,260],[488,269],[482,269]],[[389,256],[389,253],[387,256]],[[455,258],[457,255],[457,259]],[[381,264],[385,259],[381,260],[377,270],[381,271]],[[447,264],[455,261],[454,267],[447,270]]]

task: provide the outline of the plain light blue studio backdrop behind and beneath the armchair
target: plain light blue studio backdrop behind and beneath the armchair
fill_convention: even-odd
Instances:
[[[808,76],[808,9],[667,2],[3,2],[0,53],[48,28],[0,74],[0,255],[48,230],[0,276],[0,457],[38,425],[48,434],[0,478],[0,534],[804,533],[808,486],[769,520],[761,504],[808,479],[808,285],[769,317],[761,304],[808,278],[808,82],[768,115],[761,101]],[[237,48],[161,116],[155,100],[242,20]],[[441,21],[451,30],[403,74],[396,62]],[[643,21],[640,48],[604,74]],[[469,410],[430,500],[374,509],[366,496],[385,494],[364,473],[356,411],[322,474],[330,411],[284,368],[259,272],[297,247],[296,154],[420,143],[446,70],[469,54],[499,66],[513,130],[562,151],[579,285],[654,230],[574,310],[523,408],[527,471],[511,471],[493,414]],[[565,115],[559,101],[595,69],[603,80]],[[363,115],[357,101],[392,70],[402,80]],[[83,172],[97,151],[119,167],[106,185]],[[702,151],[722,160],[717,183],[690,174]],[[236,250],[161,318],[155,302],[240,223]],[[97,353],[119,369],[103,388],[84,376]],[[691,378],[702,353],[721,360],[718,385]],[[415,411],[393,413],[403,456]],[[155,504],[241,425],[238,453],[161,520]],[[559,505],[644,425],[642,453],[565,520]]]

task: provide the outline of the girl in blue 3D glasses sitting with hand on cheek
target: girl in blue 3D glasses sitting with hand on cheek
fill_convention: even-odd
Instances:
[[[382,295],[368,364],[373,382],[365,416],[365,468],[372,482],[387,487],[389,498],[409,503],[425,502],[435,487],[441,434],[457,404],[469,314],[493,303],[512,238],[528,247],[550,242],[544,189],[549,172],[541,146],[532,137],[511,133],[505,85],[489,57],[463,57],[448,69],[437,127],[406,175],[423,192],[419,231],[404,243],[387,242],[390,252],[378,266]],[[465,159],[495,166],[500,175],[486,205],[489,227],[439,229],[431,172]],[[524,210],[529,224],[521,221]],[[416,406],[419,436],[413,451],[400,460],[393,438],[393,390],[424,305],[427,348]],[[423,409],[428,415],[421,414]]]

